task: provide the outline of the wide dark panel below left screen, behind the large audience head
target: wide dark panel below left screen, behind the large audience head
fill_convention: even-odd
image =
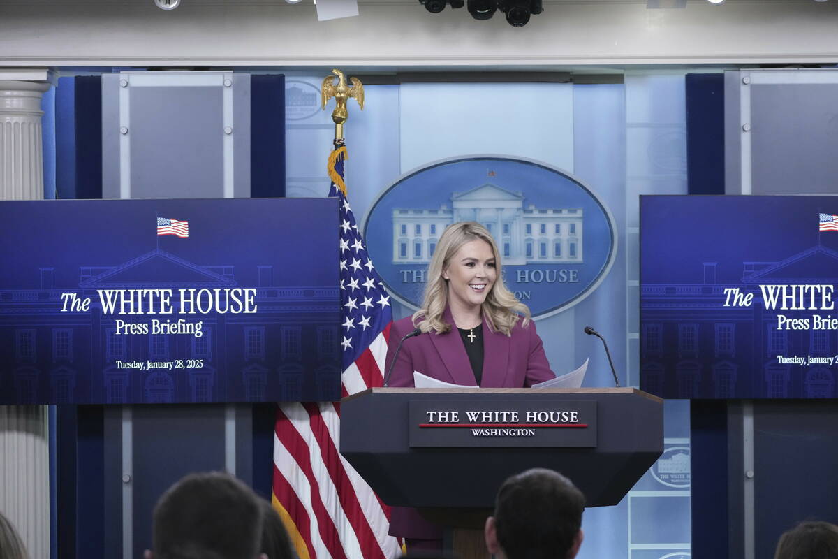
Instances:
[[[133,556],[152,546],[160,495],[190,472],[223,470],[224,406],[133,406]]]

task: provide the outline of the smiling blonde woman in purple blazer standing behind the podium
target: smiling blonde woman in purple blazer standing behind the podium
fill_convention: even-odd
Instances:
[[[422,308],[391,326],[388,386],[414,386],[414,371],[455,385],[494,388],[555,378],[530,309],[504,286],[498,247],[483,225],[449,225],[426,277]],[[406,538],[409,550],[442,549],[442,529],[415,509],[393,507],[390,533]]]

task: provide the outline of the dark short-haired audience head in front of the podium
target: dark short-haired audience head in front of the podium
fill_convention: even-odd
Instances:
[[[500,486],[486,520],[489,552],[504,559],[572,559],[582,545],[585,497],[570,479],[535,468]]]

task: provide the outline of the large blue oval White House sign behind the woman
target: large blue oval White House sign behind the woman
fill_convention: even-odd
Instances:
[[[522,158],[472,156],[401,176],[370,208],[368,250],[387,289],[419,308],[425,272],[442,231],[478,221],[497,242],[504,281],[544,318],[592,292],[617,254],[614,220],[569,173]]]

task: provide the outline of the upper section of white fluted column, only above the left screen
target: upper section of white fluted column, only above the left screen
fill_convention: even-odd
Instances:
[[[44,198],[41,97],[49,83],[0,80],[0,198]]]

